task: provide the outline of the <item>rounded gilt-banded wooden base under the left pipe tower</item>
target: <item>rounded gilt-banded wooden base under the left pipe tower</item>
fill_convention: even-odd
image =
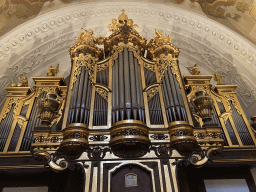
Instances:
[[[88,147],[88,126],[83,123],[71,123],[62,130],[63,141],[60,149],[70,159],[77,159]]]

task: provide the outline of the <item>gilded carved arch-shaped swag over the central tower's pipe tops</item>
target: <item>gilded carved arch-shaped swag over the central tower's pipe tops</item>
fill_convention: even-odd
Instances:
[[[143,65],[143,60],[141,59],[141,56],[140,56],[140,49],[139,47],[136,45],[134,46],[132,43],[118,43],[117,46],[114,46],[113,47],[113,51],[112,51],[112,55],[110,56],[110,59],[109,59],[109,62],[110,62],[110,65],[114,65],[114,61],[118,58],[118,53],[121,53],[124,48],[128,48],[128,51],[132,51],[133,52],[133,55],[134,57],[136,57],[138,59],[138,63],[141,65]]]

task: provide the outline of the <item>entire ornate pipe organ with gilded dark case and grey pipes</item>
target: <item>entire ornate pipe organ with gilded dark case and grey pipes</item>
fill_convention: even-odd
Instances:
[[[69,82],[57,66],[33,77],[34,89],[26,78],[7,87],[1,154],[32,154],[58,172],[81,166],[84,191],[145,191],[147,178],[147,191],[176,192],[178,166],[255,148],[255,118],[246,119],[237,86],[200,75],[197,64],[182,77],[171,37],[156,30],[147,40],[137,27],[123,11],[109,37],[81,28]]]

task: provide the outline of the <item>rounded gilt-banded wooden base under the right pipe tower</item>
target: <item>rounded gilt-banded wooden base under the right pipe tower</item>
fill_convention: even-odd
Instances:
[[[180,154],[191,153],[198,145],[193,135],[194,128],[185,121],[174,121],[169,124],[170,143]]]

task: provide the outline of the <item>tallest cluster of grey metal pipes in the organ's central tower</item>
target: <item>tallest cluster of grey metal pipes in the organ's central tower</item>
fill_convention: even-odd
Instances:
[[[112,123],[135,119],[145,122],[140,66],[127,48],[113,65]]]

